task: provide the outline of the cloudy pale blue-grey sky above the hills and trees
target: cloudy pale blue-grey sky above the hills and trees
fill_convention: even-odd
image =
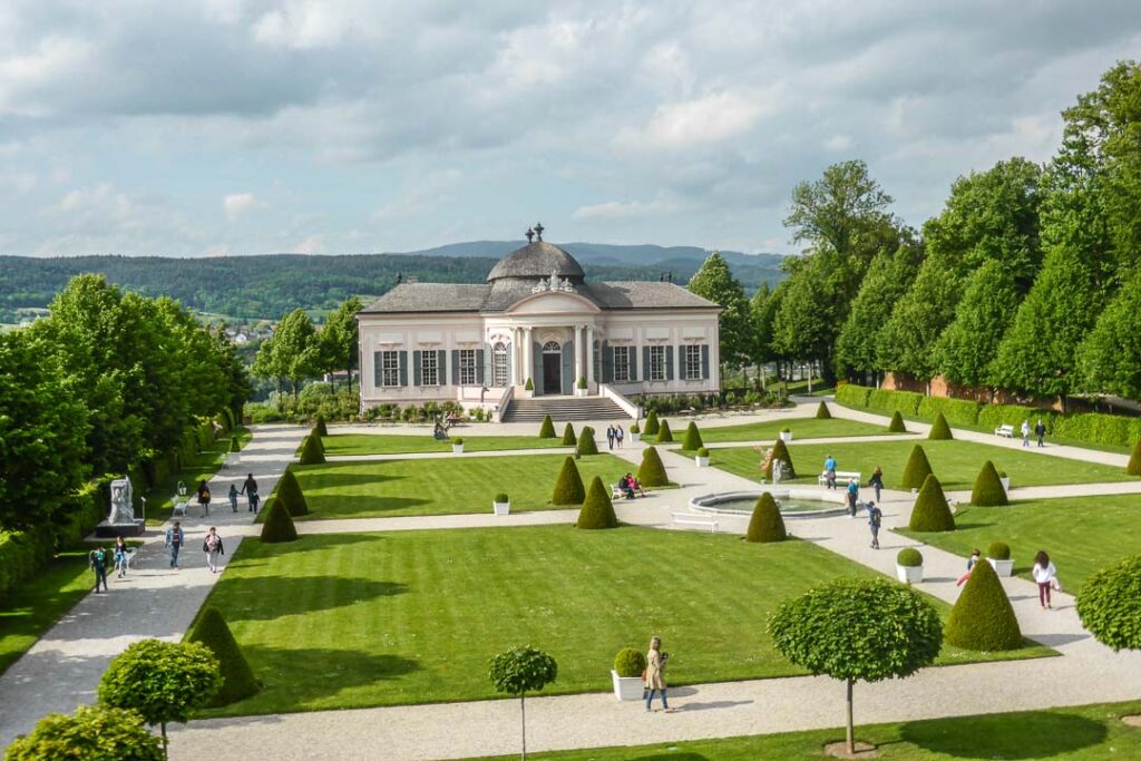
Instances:
[[[919,227],[1139,52],[1134,0],[7,0],[0,253],[788,253],[828,164]]]

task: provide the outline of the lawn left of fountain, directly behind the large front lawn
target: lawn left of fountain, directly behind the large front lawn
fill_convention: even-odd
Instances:
[[[370,460],[294,465],[309,503],[304,519],[388,518],[491,512],[499,492],[511,497],[511,511],[550,510],[555,480],[565,454],[436,460]],[[582,458],[582,481],[594,476],[607,485],[636,468],[610,454]]]

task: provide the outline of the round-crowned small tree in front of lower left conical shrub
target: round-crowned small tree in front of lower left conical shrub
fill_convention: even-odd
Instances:
[[[207,646],[144,639],[112,659],[99,680],[99,703],[138,711],[148,724],[159,724],[165,754],[167,724],[188,721],[220,687],[218,658]]]

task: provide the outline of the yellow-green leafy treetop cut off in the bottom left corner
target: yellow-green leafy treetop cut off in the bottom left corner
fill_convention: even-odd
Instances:
[[[162,740],[137,711],[81,705],[75,713],[49,713],[30,735],[21,735],[5,761],[162,761]]]

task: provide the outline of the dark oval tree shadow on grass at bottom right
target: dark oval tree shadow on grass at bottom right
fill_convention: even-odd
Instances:
[[[1104,742],[1106,726],[1044,711],[912,721],[903,739],[960,759],[1053,759]]]

